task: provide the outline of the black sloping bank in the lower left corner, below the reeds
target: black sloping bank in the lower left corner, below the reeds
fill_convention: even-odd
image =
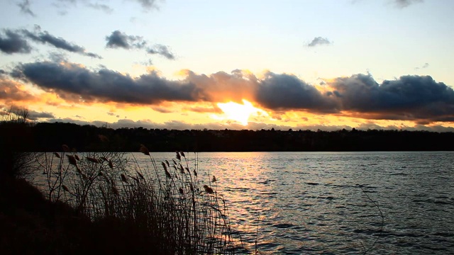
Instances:
[[[91,221],[23,179],[0,176],[0,254],[170,254],[140,230],[116,217]]]

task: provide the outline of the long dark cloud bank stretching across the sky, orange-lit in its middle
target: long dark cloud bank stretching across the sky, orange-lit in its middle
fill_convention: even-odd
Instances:
[[[130,77],[102,67],[92,70],[73,63],[20,64],[11,76],[29,81],[65,101],[116,102],[154,106],[162,102],[241,102],[270,111],[307,111],[375,120],[411,120],[420,124],[454,122],[454,91],[428,76],[403,76],[378,84],[370,74],[327,81],[323,91],[292,74],[267,72],[262,77],[242,70],[231,74],[195,74],[181,80],[156,72]],[[216,109],[213,109],[216,110]],[[210,108],[193,111],[210,112]]]

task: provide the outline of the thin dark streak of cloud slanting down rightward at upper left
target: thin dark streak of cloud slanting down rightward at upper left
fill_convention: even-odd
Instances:
[[[41,32],[39,29],[35,30],[34,32],[28,31],[28,30],[21,30],[21,32],[27,37],[30,38],[31,40],[35,42],[41,42],[41,43],[48,43],[54,47],[57,47],[62,50],[67,50],[69,52],[74,52],[74,53],[79,53],[88,57],[96,57],[96,58],[101,58],[101,56],[96,55],[92,52],[86,52],[84,47],[75,45],[71,42],[67,42],[67,40],[63,38],[57,38],[54,35],[50,35],[48,31]]]

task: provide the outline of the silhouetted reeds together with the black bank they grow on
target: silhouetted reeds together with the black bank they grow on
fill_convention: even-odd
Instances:
[[[26,153],[26,121],[3,121],[0,254],[235,254],[216,178],[183,152],[149,168],[119,152]],[[7,135],[5,135],[7,134]],[[8,138],[9,137],[9,138]],[[6,155],[6,157],[5,157]],[[196,162],[196,161],[192,161]],[[191,163],[192,164],[192,163]],[[26,181],[30,174],[44,183]]]

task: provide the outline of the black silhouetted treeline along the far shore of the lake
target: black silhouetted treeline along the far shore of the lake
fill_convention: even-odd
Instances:
[[[28,150],[58,152],[306,152],[454,150],[453,132],[405,130],[167,130],[98,128],[72,123],[37,123]]]

